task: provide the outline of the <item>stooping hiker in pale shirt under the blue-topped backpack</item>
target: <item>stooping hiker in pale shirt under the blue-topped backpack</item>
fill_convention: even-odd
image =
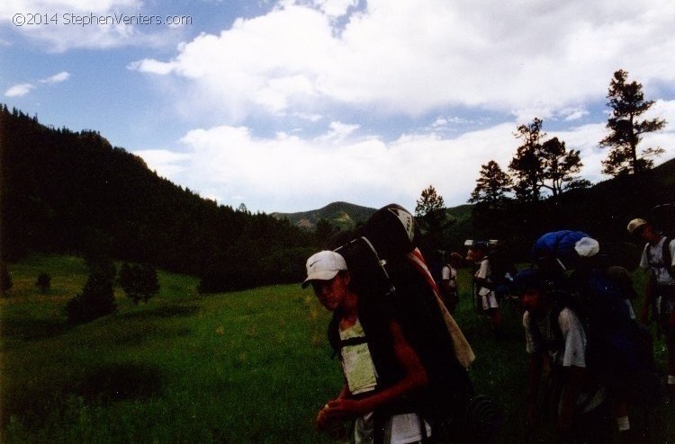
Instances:
[[[546,361],[554,380],[552,401],[557,406],[556,427],[562,441],[611,442],[612,414],[606,402],[606,389],[586,369],[587,339],[579,316],[566,306],[554,310],[553,288],[541,271],[520,271],[514,285],[525,309],[523,327],[529,354],[528,424],[536,423],[541,410],[537,391]],[[558,335],[560,337],[556,337]]]

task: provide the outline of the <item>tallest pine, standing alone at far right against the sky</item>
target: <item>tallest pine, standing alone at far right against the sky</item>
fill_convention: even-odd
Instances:
[[[640,152],[638,144],[642,135],[663,129],[666,120],[639,120],[652,108],[653,101],[645,101],[643,85],[627,82],[628,73],[619,69],[609,84],[608,106],[612,109],[607,129],[609,135],[600,140],[600,147],[609,147],[609,155],[602,162],[602,173],[617,176],[626,173],[641,173],[653,167],[650,157],[662,155],[660,147],[648,147]]]

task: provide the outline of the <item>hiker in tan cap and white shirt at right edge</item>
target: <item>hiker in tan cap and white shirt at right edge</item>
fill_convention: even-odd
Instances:
[[[668,392],[675,399],[675,239],[668,239],[642,218],[631,220],[628,232],[646,242],[640,267],[649,277],[640,321],[648,324],[649,312],[655,308],[668,350]]]

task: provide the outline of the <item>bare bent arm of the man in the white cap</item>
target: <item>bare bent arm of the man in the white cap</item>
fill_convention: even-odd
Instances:
[[[329,417],[355,418],[393,404],[400,400],[403,395],[408,395],[421,387],[427,386],[427,371],[419,361],[417,353],[415,353],[410,343],[403,336],[401,326],[392,322],[390,330],[392,332],[394,351],[404,369],[405,376],[393,386],[375,392],[371,396],[360,399],[341,397],[329,401],[328,408],[326,409]]]

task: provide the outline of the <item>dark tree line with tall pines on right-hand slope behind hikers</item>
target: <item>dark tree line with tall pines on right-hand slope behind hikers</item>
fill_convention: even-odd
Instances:
[[[672,200],[672,185],[653,173],[653,158],[661,147],[642,148],[645,134],[661,130],[662,119],[644,119],[653,106],[645,100],[642,84],[628,81],[617,70],[608,88],[608,136],[599,147],[608,148],[602,173],[611,183],[591,183],[580,177],[580,150],[568,149],[557,137],[547,138],[544,120],[518,126],[520,142],[508,168],[494,160],[482,164],[469,202],[473,203],[474,236],[504,239],[527,258],[531,240],[555,229],[586,229],[608,241],[626,240],[626,223],[636,215],[647,216],[650,206]],[[461,239],[439,236],[453,221],[446,218],[442,197],[433,186],[422,191],[416,216],[423,244],[435,249],[461,248]]]

